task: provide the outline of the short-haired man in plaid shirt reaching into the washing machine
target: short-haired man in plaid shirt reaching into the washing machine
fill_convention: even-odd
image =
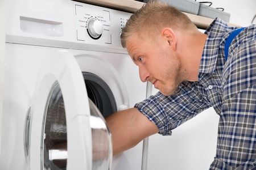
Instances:
[[[134,108],[106,119],[114,154],[171,130],[213,107],[220,116],[216,158],[210,169],[256,169],[256,31],[230,33],[216,19],[205,33],[179,10],[152,1],[127,21],[122,45],[139,67],[142,82],[160,91]],[[170,144],[171,145],[171,144]]]

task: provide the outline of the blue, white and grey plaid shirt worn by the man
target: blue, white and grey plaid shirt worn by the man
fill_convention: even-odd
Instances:
[[[183,82],[174,95],[158,92],[135,104],[162,135],[213,107],[220,121],[210,169],[256,169],[256,25],[234,38],[225,61],[233,29],[217,18],[205,31],[198,82]]]

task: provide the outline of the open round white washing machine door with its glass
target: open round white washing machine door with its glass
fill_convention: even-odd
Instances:
[[[30,169],[110,169],[111,134],[67,50],[44,59],[27,117]]]

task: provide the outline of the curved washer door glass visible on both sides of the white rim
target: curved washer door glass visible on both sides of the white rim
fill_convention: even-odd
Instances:
[[[89,107],[92,129],[92,169],[109,169],[112,163],[111,134],[104,117],[90,99]],[[44,169],[66,169],[67,142],[65,105],[60,86],[56,83],[49,94],[47,109],[44,113],[41,145]]]

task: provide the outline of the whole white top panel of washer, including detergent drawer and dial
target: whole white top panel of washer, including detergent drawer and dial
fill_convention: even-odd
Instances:
[[[7,3],[6,42],[127,54],[120,34],[129,12],[77,1],[13,1]]]

